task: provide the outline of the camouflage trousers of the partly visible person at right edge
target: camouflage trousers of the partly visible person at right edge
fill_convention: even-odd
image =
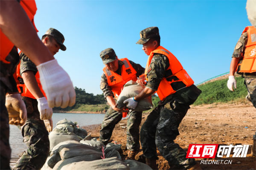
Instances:
[[[250,101],[256,108],[256,76],[255,77],[244,77],[244,84],[250,95]]]

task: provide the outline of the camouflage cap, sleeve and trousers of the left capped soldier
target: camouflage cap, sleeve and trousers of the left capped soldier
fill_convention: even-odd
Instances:
[[[44,34],[53,37],[61,46],[62,51],[66,50],[63,44],[64,36],[56,29],[49,28]],[[43,36],[43,37],[44,37]],[[25,54],[20,54],[20,75],[25,71],[33,71],[34,74],[38,72],[36,65]],[[24,84],[23,79],[18,77],[20,84]],[[22,93],[22,90],[21,90]],[[21,132],[23,142],[28,146],[28,149],[20,157],[15,164],[14,170],[19,169],[41,169],[44,162],[49,155],[49,133],[44,125],[44,121],[40,119],[40,112],[38,111],[38,102],[36,99],[22,96],[22,99],[27,109],[27,121],[23,125]]]

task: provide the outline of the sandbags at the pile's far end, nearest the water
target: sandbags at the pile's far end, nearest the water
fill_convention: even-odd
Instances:
[[[76,123],[63,119],[49,134],[50,150],[60,142],[74,140],[79,142],[87,136],[87,131],[76,126]]]

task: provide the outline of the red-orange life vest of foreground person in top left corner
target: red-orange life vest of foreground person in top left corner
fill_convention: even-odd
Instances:
[[[20,5],[23,7],[24,11],[26,12],[27,16],[29,17],[29,20],[34,23],[34,15],[36,13],[36,4],[35,0],[21,0]],[[38,31],[35,28],[36,31]],[[6,37],[5,34],[3,34],[2,30],[0,31],[0,60],[4,63],[10,63],[9,61],[6,61],[6,56],[10,53],[12,50],[14,44]]]

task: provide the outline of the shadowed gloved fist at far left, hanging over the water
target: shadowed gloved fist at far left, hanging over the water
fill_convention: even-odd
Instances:
[[[7,94],[5,105],[9,113],[9,124],[24,125],[27,119],[27,111],[20,94]]]

